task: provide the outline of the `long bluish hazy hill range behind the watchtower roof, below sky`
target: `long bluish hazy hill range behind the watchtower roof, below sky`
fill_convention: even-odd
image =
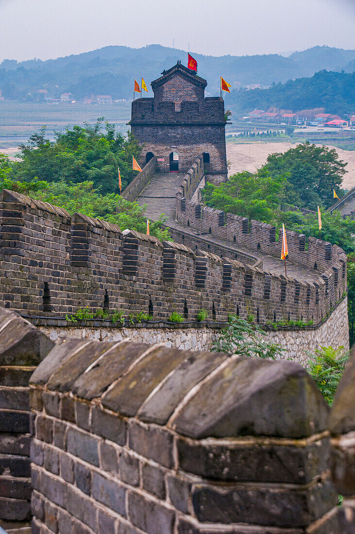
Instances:
[[[321,69],[352,72],[355,50],[315,46],[289,57],[278,54],[263,56],[202,56],[192,52],[198,60],[199,75],[207,78],[207,90],[217,95],[220,75],[232,84],[271,85],[273,82],[302,76],[312,76]],[[149,84],[162,70],[180,59],[187,62],[183,50],[148,45],[133,49],[126,46],[106,46],[99,50],[51,59],[29,60],[18,63],[4,60],[0,65],[0,90],[5,98],[43,98],[37,91],[46,89],[46,96],[58,97],[72,92],[76,98],[94,95],[112,95],[113,98],[132,96],[132,80],[143,76]],[[150,93],[150,87],[149,87]],[[149,96],[149,95],[148,95]]]

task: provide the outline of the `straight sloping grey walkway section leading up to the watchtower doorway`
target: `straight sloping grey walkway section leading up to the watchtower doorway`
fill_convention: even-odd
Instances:
[[[183,172],[156,172],[137,198],[139,206],[147,204],[146,216],[152,221],[161,214],[175,221],[175,194],[185,176]]]

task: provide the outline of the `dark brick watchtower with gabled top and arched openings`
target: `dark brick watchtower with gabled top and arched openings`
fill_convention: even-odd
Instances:
[[[178,62],[152,82],[154,98],[132,102],[131,130],[143,145],[141,166],[153,156],[163,172],[187,172],[204,154],[210,182],[227,178],[224,101],[204,97],[207,81]]]

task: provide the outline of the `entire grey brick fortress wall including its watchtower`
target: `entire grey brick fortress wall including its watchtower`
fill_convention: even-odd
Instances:
[[[172,241],[0,194],[10,527],[33,514],[32,534],[353,531],[354,362],[330,415],[299,365],[320,345],[349,348],[346,255],[287,232],[285,276],[275,227],[201,204],[206,181],[227,179],[224,103],[206,85],[178,63],[132,103],[143,171],[123,196],[167,215]],[[154,320],[68,323],[83,307]],[[208,352],[228,313],[253,315],[296,363]]]

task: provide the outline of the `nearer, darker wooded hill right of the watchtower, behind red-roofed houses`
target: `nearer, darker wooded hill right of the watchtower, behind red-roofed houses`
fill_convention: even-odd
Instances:
[[[251,109],[275,107],[294,112],[324,107],[326,113],[343,116],[355,113],[355,72],[351,74],[321,70],[310,78],[278,83],[270,89],[233,91],[228,107],[244,115]]]

